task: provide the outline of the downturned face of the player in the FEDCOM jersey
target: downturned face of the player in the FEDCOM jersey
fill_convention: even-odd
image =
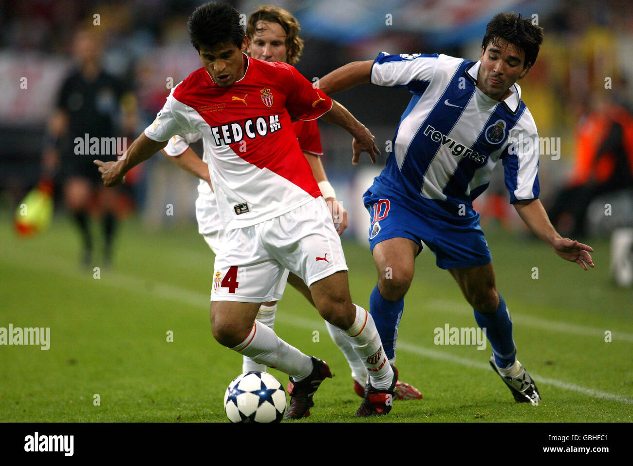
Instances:
[[[244,55],[246,36],[242,47],[237,48],[231,42],[218,44],[213,48],[200,47],[200,58],[203,67],[211,75],[211,79],[220,87],[230,87],[244,76]]]

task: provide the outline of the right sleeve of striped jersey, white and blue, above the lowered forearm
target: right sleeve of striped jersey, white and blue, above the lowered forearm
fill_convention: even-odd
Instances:
[[[501,155],[510,202],[537,199],[539,186],[539,135],[519,137]]]

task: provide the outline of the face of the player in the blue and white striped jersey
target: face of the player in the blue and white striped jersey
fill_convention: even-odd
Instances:
[[[477,87],[491,99],[503,101],[511,94],[510,86],[525,76],[529,67],[525,67],[522,51],[503,39],[498,42],[482,49]]]

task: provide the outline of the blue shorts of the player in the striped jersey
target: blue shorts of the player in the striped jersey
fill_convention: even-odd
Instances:
[[[479,214],[468,207],[465,217],[436,215],[433,209],[400,197],[377,196],[368,190],[363,195],[372,224],[369,244],[373,248],[391,238],[409,238],[424,242],[436,255],[441,269],[485,266],[492,261],[490,250],[479,226]],[[433,202],[429,200],[429,202]]]

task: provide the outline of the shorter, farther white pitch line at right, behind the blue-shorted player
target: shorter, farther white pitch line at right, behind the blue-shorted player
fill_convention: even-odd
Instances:
[[[465,313],[470,313],[472,315],[473,312],[465,302],[448,301],[446,299],[432,299],[428,304],[425,304],[425,307],[428,309],[441,309],[442,311],[461,315],[464,315]],[[510,313],[512,313],[512,309],[510,309]],[[576,325],[568,322],[560,322],[515,313],[512,313],[512,321],[518,325],[525,325],[525,327],[540,328],[541,330],[550,330],[554,332],[573,333],[575,335],[584,335],[586,337],[596,337],[600,339],[605,338],[605,330],[611,330],[610,328],[588,327],[586,325]],[[611,340],[633,342],[633,333],[611,330]]]

